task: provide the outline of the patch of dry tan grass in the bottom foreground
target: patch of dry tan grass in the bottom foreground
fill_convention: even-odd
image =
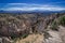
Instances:
[[[41,43],[43,42],[43,34],[29,34],[25,39],[17,39],[15,43]]]

